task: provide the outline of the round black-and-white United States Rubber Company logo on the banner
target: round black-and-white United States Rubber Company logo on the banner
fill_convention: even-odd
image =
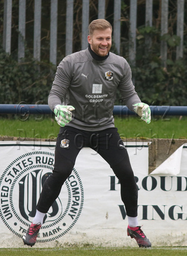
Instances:
[[[53,153],[29,152],[11,162],[1,176],[0,217],[18,237],[22,237],[31,225],[44,181],[52,173],[53,164]],[[81,179],[73,169],[45,215],[37,242],[54,241],[64,236],[76,224],[83,203]]]

